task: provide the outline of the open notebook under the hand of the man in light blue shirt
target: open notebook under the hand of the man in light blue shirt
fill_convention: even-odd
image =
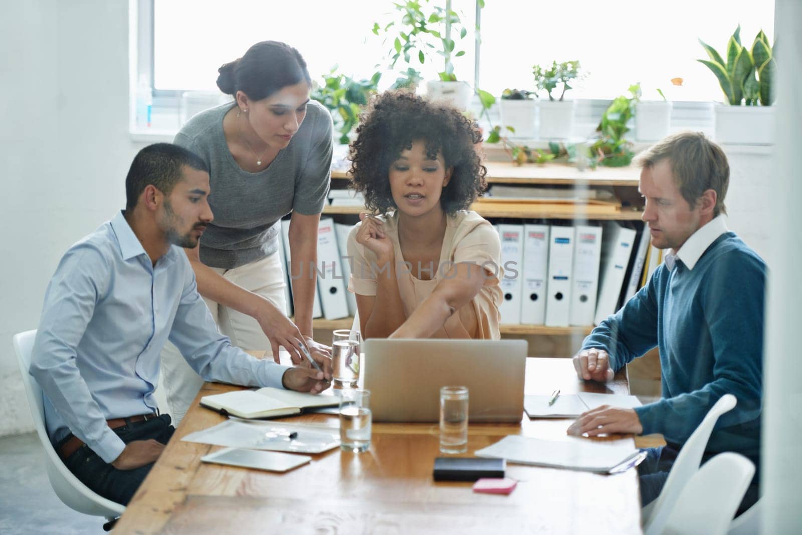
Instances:
[[[305,408],[334,407],[338,398],[331,394],[307,394],[282,388],[237,390],[201,397],[201,405],[240,418],[275,418],[300,414]]]

